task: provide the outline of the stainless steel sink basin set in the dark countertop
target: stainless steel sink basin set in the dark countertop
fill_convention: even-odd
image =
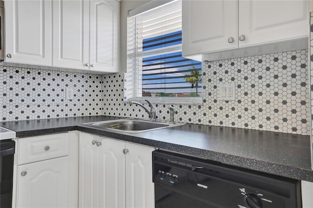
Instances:
[[[141,133],[145,131],[152,131],[156,129],[169,128],[178,125],[184,125],[183,123],[170,124],[167,122],[146,121],[139,119],[121,119],[113,121],[101,121],[85,123],[83,125],[111,129],[119,132],[126,133]]]

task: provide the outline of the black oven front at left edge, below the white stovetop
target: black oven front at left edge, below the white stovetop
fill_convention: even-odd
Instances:
[[[15,142],[0,140],[0,208],[12,208]]]

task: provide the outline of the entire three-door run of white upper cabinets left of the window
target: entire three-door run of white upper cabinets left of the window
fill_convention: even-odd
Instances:
[[[5,62],[118,72],[119,4],[6,0]]]

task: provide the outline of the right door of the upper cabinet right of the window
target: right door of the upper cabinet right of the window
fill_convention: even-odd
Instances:
[[[239,0],[239,47],[308,37],[306,0]]]

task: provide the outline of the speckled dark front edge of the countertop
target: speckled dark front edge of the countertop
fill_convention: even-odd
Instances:
[[[236,155],[225,154],[221,152],[215,152],[206,149],[200,149],[190,146],[183,146],[178,144],[166,143],[162,141],[151,140],[147,138],[136,137],[130,134],[122,134],[112,131],[106,131],[104,129],[96,129],[92,127],[87,127],[85,125],[73,125],[64,127],[53,127],[29,131],[18,131],[16,132],[16,137],[30,137],[39,136],[45,134],[61,133],[66,131],[79,130],[82,132],[95,134],[104,137],[110,137],[113,139],[122,140],[125,142],[132,142],[136,144],[153,146],[156,148],[174,151],[181,154],[191,155],[195,157],[204,158],[206,160],[211,160],[215,162],[220,162],[230,166],[237,166],[242,168],[247,168],[254,171],[265,172],[269,174],[284,176],[288,178],[293,178],[297,180],[304,180],[313,182],[313,171],[309,169],[302,169],[299,167],[292,167],[286,165],[280,165],[275,163],[270,163],[266,161],[240,157]],[[122,136],[122,137],[121,137]]]

